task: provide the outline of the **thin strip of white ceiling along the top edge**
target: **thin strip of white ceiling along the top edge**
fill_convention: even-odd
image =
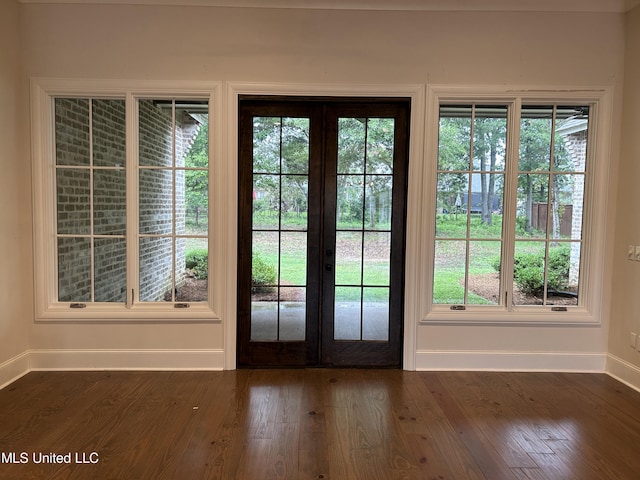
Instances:
[[[19,0],[21,3],[138,4],[335,10],[626,12],[640,0]]]

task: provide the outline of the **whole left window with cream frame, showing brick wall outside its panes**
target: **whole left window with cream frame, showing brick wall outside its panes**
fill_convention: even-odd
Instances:
[[[39,318],[211,318],[211,93],[37,93]]]

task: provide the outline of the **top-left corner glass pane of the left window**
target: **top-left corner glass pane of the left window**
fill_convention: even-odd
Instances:
[[[55,99],[56,164],[89,166],[89,100],[86,98]]]

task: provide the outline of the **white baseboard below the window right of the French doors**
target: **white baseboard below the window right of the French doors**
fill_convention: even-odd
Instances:
[[[416,370],[603,373],[605,353],[419,351]]]

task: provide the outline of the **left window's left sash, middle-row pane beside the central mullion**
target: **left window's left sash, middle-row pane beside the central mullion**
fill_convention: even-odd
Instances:
[[[125,171],[93,172],[93,229],[96,235],[124,235],[127,223]]]

